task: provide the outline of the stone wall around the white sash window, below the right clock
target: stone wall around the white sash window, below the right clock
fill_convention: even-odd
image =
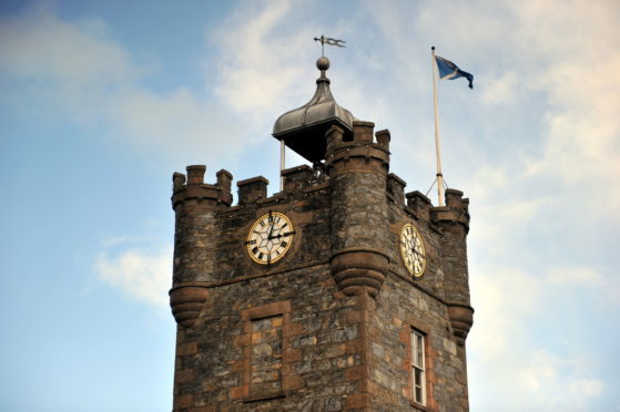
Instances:
[[[370,369],[376,385],[373,410],[414,410],[411,329],[426,334],[428,410],[466,410],[465,364],[450,333],[445,305],[419,289],[410,288],[397,276],[386,279],[373,311]]]

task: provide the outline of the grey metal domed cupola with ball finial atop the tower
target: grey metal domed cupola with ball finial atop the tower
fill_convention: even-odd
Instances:
[[[325,159],[325,132],[332,125],[341,126],[347,140],[352,137],[353,122],[357,120],[348,110],[339,106],[332,95],[331,82],[325,75],[329,60],[318,58],[316,66],[321,70],[321,78],[316,80],[316,92],[312,100],[299,109],[284,113],[273,128],[275,138],[284,141],[286,146],[311,162]]]

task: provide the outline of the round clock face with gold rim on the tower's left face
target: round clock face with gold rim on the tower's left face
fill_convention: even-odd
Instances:
[[[294,235],[293,224],[286,215],[270,212],[252,225],[245,241],[247,253],[257,264],[274,264],[286,255]]]

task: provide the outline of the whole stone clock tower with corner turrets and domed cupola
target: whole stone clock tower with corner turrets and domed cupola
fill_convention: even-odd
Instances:
[[[317,61],[274,137],[311,163],[283,190],[175,173],[174,411],[467,411],[468,199],[434,207],[389,173],[387,130],[355,119]]]

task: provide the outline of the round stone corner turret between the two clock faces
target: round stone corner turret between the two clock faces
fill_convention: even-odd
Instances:
[[[367,292],[376,297],[387,276],[389,152],[385,138],[373,142],[374,126],[353,122],[350,141],[337,125],[326,133],[332,186],[331,270],[345,295]]]

